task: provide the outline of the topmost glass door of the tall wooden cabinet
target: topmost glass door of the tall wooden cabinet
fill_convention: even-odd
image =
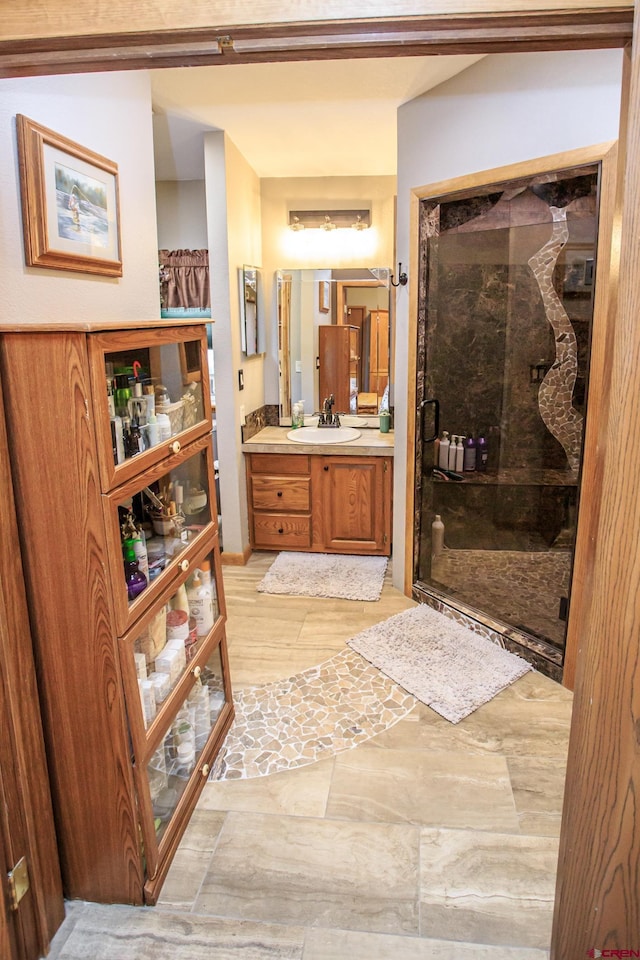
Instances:
[[[89,349],[104,489],[210,431],[201,327],[94,334]]]

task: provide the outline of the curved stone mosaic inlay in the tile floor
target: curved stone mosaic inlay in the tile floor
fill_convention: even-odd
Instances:
[[[234,700],[211,780],[262,777],[349,750],[417,702],[349,648],[296,676],[239,690]]]

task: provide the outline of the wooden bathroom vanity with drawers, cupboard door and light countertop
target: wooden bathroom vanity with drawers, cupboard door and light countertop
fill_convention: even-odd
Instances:
[[[252,549],[390,556],[393,434],[307,444],[287,432],[266,427],[242,446]]]

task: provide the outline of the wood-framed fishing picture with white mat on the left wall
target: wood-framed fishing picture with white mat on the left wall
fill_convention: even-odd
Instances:
[[[118,166],[16,116],[26,263],[122,276]]]

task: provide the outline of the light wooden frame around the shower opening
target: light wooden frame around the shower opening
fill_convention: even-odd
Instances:
[[[416,490],[416,449],[418,446],[417,430],[420,426],[417,398],[417,350],[415,345],[418,337],[418,305],[419,305],[419,219],[420,203],[423,200],[447,195],[454,198],[463,196],[474,190],[486,189],[494,183],[503,183],[508,180],[521,180],[546,173],[549,170],[563,170],[574,167],[588,166],[599,163],[600,167],[600,203],[598,213],[598,237],[595,274],[595,296],[593,304],[593,321],[591,327],[591,360],[589,373],[589,402],[585,422],[584,455],[582,480],[580,488],[580,507],[578,511],[578,529],[574,550],[572,600],[567,623],[567,638],[564,660],[569,663],[569,670],[563,674],[565,685],[573,689],[575,661],[577,647],[580,640],[580,629],[583,623],[581,611],[588,594],[590,581],[590,531],[593,529],[594,516],[599,511],[599,495],[595,486],[593,458],[597,437],[601,429],[603,416],[602,385],[606,382],[606,368],[610,362],[610,353],[606,345],[610,345],[612,336],[612,317],[609,309],[610,299],[614,294],[618,279],[618,259],[616,249],[612,250],[612,236],[614,225],[614,211],[617,207],[616,181],[618,166],[618,148],[616,141],[596,144],[577,150],[564,151],[546,157],[537,157],[534,160],[525,160],[519,163],[508,164],[504,167],[495,167],[491,170],[479,171],[451,180],[441,180],[424,187],[416,187],[411,191],[411,264],[409,268],[409,368],[407,371],[407,494],[405,508],[405,593],[411,596],[413,588],[414,570],[414,529],[417,514],[420,508]],[[583,515],[584,511],[584,515]],[[575,611],[575,614],[573,613]],[[566,679],[564,679],[566,677]]]

